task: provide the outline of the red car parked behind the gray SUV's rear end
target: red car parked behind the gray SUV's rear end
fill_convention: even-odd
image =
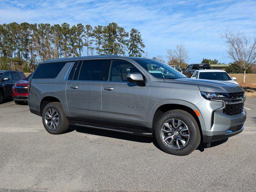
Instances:
[[[32,73],[24,77],[23,80],[18,81],[12,86],[12,99],[16,104],[22,104],[28,102],[28,79],[32,76]]]

